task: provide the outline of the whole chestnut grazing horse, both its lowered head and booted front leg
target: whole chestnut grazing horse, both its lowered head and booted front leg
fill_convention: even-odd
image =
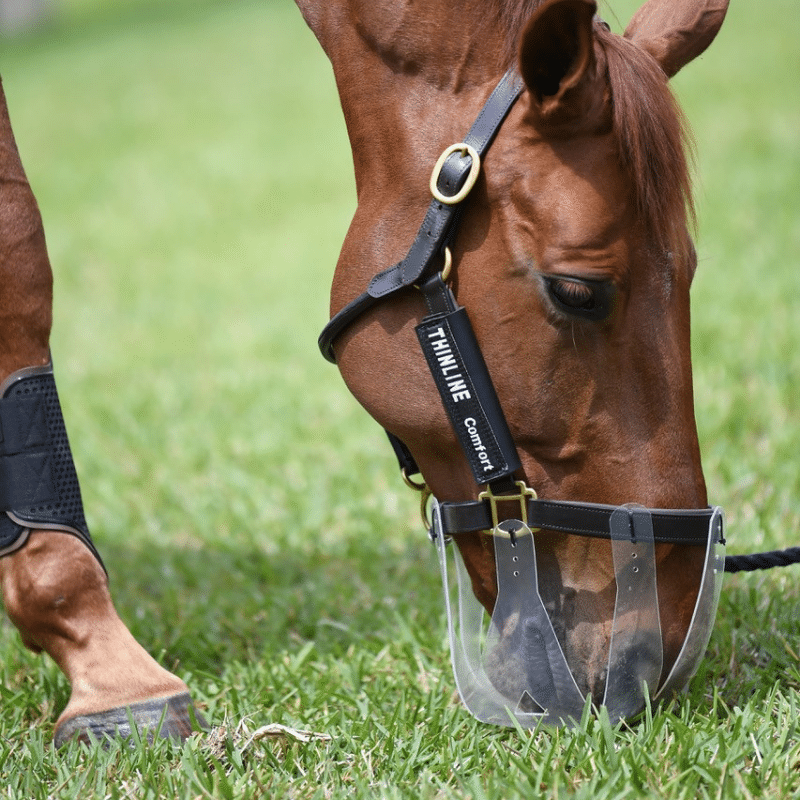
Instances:
[[[667,80],[710,44],[727,0],[648,0],[624,36],[596,16],[593,0],[296,3],[330,58],[356,175],[358,206],[331,311],[403,258],[430,201],[432,165],[511,70],[518,99],[470,178],[458,236],[447,243],[446,288],[467,309],[491,373],[516,454],[513,478],[526,497],[536,487],[556,503],[706,508],[689,350],[690,180]],[[131,724],[184,739],[206,723],[184,682],[120,620],[86,528],[50,361],[41,215],[2,86],[0,271],[0,582],[23,642],[69,680],[55,743],[127,736]],[[366,411],[402,442],[436,502],[475,501],[486,485],[415,338],[425,315],[421,293],[403,286],[348,320],[328,354]],[[490,530],[452,537],[489,613],[500,605],[490,542],[515,514],[525,516],[514,511],[524,503],[508,497],[480,501],[496,517]],[[513,544],[513,528],[510,537]],[[536,533],[536,549],[559,647],[578,689],[600,698],[616,630],[608,541],[556,526]],[[663,682],[690,628],[705,562],[701,548],[675,542],[658,541],[653,552]],[[506,623],[501,661],[514,636],[510,616]],[[493,680],[516,678],[499,669]]]

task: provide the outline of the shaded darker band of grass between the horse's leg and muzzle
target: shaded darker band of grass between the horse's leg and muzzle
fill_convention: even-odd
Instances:
[[[398,614],[441,635],[441,588],[425,541],[391,552],[375,542],[276,555],[224,544],[102,551],[120,616],[171,669],[218,673],[226,661],[312,640],[321,654],[354,642],[380,648]]]

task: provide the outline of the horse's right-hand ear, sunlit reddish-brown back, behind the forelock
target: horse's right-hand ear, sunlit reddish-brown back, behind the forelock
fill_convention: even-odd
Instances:
[[[625,37],[650,53],[671,78],[714,41],[728,0],[648,0]]]

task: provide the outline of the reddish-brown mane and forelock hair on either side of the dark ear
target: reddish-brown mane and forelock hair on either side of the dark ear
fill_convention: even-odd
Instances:
[[[543,0],[490,0],[506,31],[504,68],[518,57],[519,37]],[[681,231],[696,221],[691,166],[694,146],[685,116],[667,77],[648,53],[628,39],[595,25],[605,53],[613,128],[623,169],[631,176],[639,219],[658,246],[675,253]]]

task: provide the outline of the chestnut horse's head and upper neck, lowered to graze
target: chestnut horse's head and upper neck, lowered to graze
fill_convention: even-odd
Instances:
[[[403,259],[437,156],[515,66],[524,90],[450,248],[450,285],[508,422],[515,477],[556,501],[705,508],[690,362],[690,178],[668,78],[708,46],[727,0],[649,0],[624,36],[598,19],[593,0],[298,4],[331,58],[356,170],[358,207],[332,310]],[[356,398],[409,448],[435,498],[475,500],[484,487],[414,334],[424,316],[419,292],[399,292],[348,325],[336,360]],[[491,682],[519,695],[529,685],[517,664],[528,623],[497,608],[497,536],[455,538],[465,579],[495,615]],[[705,549],[651,538],[657,600],[623,609],[624,567],[607,539],[548,529],[533,539],[538,595],[580,696],[602,701],[626,616],[650,616],[629,655],[648,661],[649,639],[660,639],[649,688],[663,688],[697,607]],[[619,715],[642,703],[618,703]]]

